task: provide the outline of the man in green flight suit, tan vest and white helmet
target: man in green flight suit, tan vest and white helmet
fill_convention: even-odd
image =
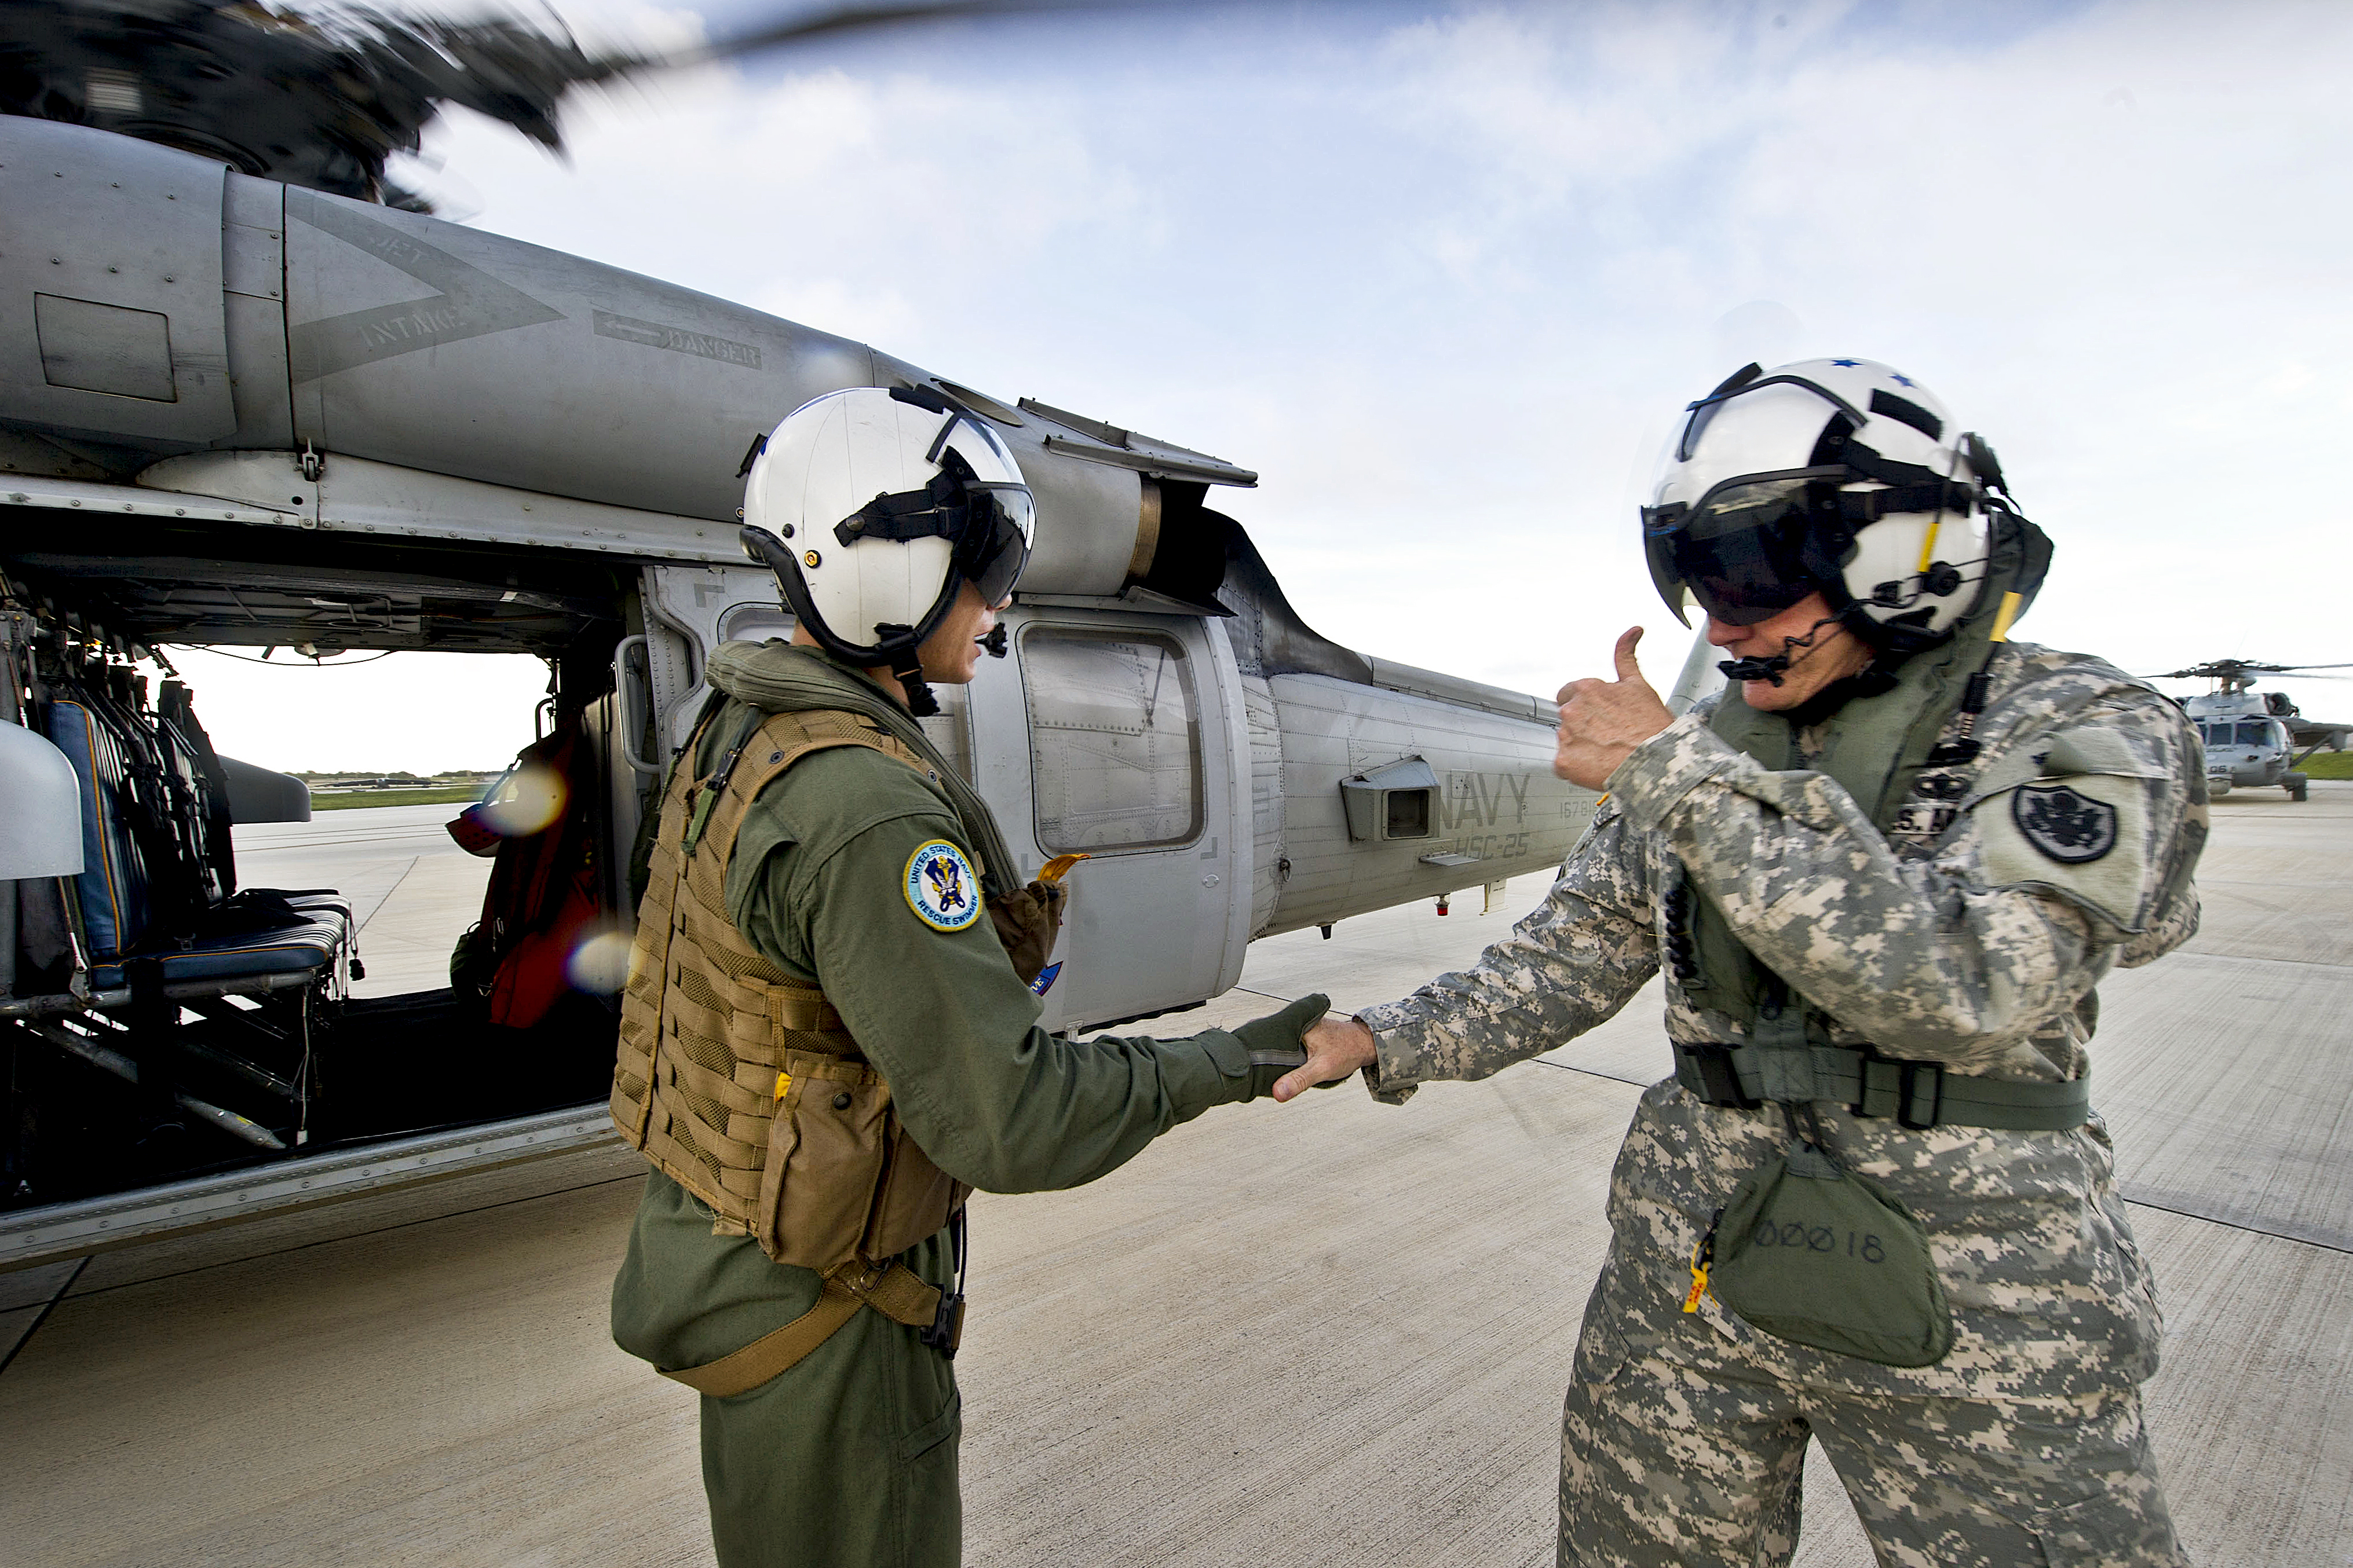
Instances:
[[[1089,1182],[1266,1093],[1325,999],[1191,1039],[1038,1030],[1059,889],[1014,882],[915,724],[1031,545],[986,421],[831,393],[774,430],[744,517],[795,635],[711,658],[671,771],[614,1072],[654,1173],[612,1331],[704,1394],[722,1568],[946,1568],[965,1194]]]

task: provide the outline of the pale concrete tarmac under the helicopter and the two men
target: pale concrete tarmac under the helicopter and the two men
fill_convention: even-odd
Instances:
[[[339,856],[329,882],[384,889],[372,983],[379,952],[426,973],[487,863],[367,816],[256,844],[287,877],[249,879]],[[2205,929],[2101,987],[2094,1041],[2167,1312],[2148,1422],[2200,1563],[2353,1563],[2353,785],[2214,818]],[[1478,903],[1259,943],[1148,1027],[1398,997],[1501,936]],[[1092,1187],[976,1197],[967,1561],[1548,1563],[1609,1159],[1664,1072],[1645,994],[1405,1110],[1219,1110]],[[708,1563],[694,1399],[605,1338],[638,1185],[598,1150],[0,1274],[0,1354],[38,1319],[0,1373],[0,1561]],[[1871,1561],[1819,1450],[1798,1561]]]

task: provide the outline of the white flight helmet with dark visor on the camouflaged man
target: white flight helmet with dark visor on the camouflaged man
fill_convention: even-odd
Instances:
[[[1871,360],[1746,364],[1689,407],[1642,545],[1652,581],[1729,625],[1817,588],[1866,642],[1911,654],[1984,597],[1993,449],[1911,376]]]

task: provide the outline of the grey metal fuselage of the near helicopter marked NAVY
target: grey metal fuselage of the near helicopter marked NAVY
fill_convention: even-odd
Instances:
[[[1047,1027],[1186,1009],[1231,987],[1259,936],[1558,865],[1593,813],[1551,773],[1548,701],[1308,630],[1207,505],[1257,475],[1200,451],[579,256],[45,120],[0,118],[0,574],[42,668],[158,646],[541,656],[593,759],[600,898],[624,924],[628,849],[713,649],[791,630],[736,543],[746,447],[845,386],[946,393],[995,423],[1038,496],[1009,658],[927,726],[1021,877],[1092,856]],[[0,719],[26,717],[21,698]],[[59,1009],[89,985],[49,983],[66,990],[0,983],[0,1032],[54,1077]],[[355,1009],[336,987],[320,1004]],[[92,1030],[120,1023],[89,1006]],[[346,1011],[344,1048],[384,1048],[388,1018]],[[440,1027],[426,1004],[402,1018]],[[435,1121],[480,1159],[598,1138],[586,1103],[609,1053],[579,1053],[536,1100]],[[414,1131],[379,1110],[336,1133],[311,1077],[247,1065],[280,1088],[235,1114],[278,1126],[296,1164]],[[518,1114],[567,1131],[515,1133]],[[261,1161],[247,1145],[191,1161]],[[202,1199],[125,1180],[26,1178],[0,1265],[256,1208],[238,1175]],[[315,1201],[336,1180],[266,1185]]]

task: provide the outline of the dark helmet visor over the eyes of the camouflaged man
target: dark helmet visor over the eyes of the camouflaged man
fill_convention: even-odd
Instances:
[[[1642,510],[1642,552],[1668,604],[1689,588],[1725,625],[1755,625],[1781,614],[1819,583],[1805,569],[1807,522],[1817,487],[1840,470],[1800,470],[1727,480],[1697,505]]]

